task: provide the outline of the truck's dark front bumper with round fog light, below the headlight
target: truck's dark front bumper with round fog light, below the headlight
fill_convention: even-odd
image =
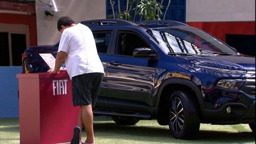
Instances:
[[[202,121],[211,124],[255,122],[255,79],[246,79],[241,90],[210,86],[201,105]],[[202,122],[202,123],[204,123]]]

